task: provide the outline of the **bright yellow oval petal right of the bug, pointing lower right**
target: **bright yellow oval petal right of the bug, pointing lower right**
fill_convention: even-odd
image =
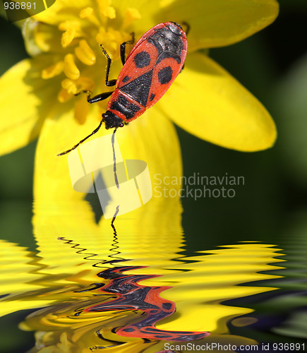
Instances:
[[[159,101],[189,133],[222,147],[252,152],[270,148],[274,121],[246,88],[208,56],[194,53]]]

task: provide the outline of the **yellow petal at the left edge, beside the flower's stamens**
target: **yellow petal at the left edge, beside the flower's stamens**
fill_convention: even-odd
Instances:
[[[47,57],[25,59],[0,79],[0,154],[28,145],[40,133],[44,116],[56,100],[54,86],[40,78]]]

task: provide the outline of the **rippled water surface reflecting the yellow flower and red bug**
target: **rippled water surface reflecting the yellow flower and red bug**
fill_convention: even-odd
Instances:
[[[73,234],[64,218],[44,216],[34,220],[35,251],[1,240],[1,353],[303,350],[305,237],[203,241],[188,253],[182,232],[124,232],[119,219],[115,233],[108,223]]]

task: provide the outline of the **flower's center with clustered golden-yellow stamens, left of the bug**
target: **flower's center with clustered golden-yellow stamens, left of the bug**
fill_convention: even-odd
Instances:
[[[64,52],[64,55],[59,52],[54,53],[54,64],[42,70],[44,79],[64,76],[59,88],[59,102],[67,102],[84,91],[93,92],[97,86],[100,92],[107,91],[104,85],[107,59],[102,53],[100,44],[112,61],[119,60],[120,44],[131,40],[131,35],[126,32],[126,28],[140,18],[138,10],[127,8],[124,16],[123,13],[119,13],[118,17],[122,18],[119,20],[116,18],[117,10],[112,6],[112,0],[95,0],[92,1],[92,5],[81,9],[76,18],[58,25],[61,36],[58,36],[60,44],[57,43],[56,47],[59,48],[60,53]],[[52,52],[52,47],[45,46],[44,51]],[[80,100],[88,104],[85,98],[86,95],[76,98],[76,108],[78,106],[80,109]],[[77,120],[83,124],[85,118],[77,117]]]

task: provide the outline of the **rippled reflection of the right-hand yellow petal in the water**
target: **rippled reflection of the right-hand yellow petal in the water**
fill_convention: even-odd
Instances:
[[[177,317],[175,321],[161,323],[157,327],[166,329],[171,325],[173,330],[189,328],[228,333],[226,324],[230,318],[251,313],[252,310],[225,306],[222,301],[274,289],[247,283],[279,277],[260,273],[279,268],[268,265],[282,261],[274,258],[280,255],[277,254],[280,249],[272,246],[258,243],[220,246],[221,249],[198,251],[197,256],[184,258],[184,261],[191,263],[173,265],[172,269],[176,272],[165,275],[162,281],[173,286],[164,292],[164,297],[175,301]]]

